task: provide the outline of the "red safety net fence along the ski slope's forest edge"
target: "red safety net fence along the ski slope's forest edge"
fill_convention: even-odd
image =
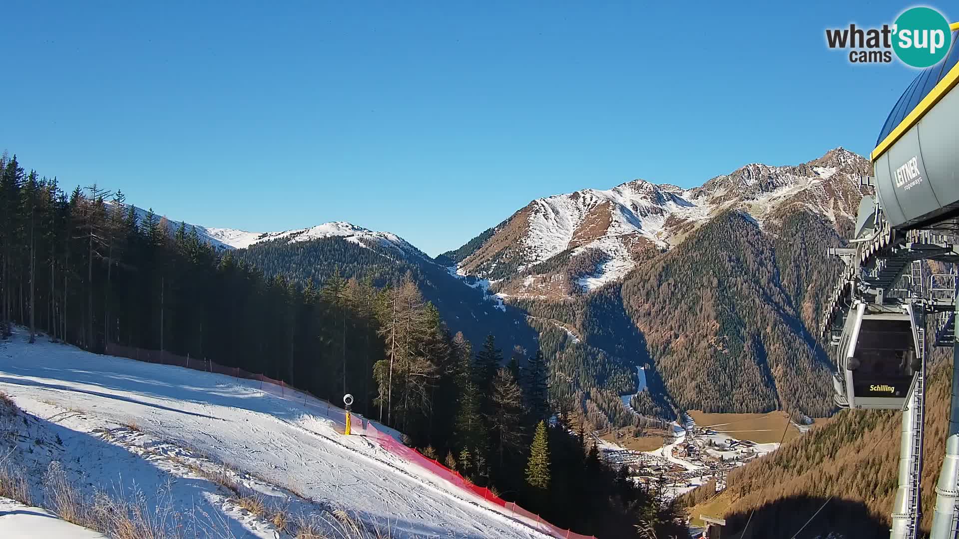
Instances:
[[[216,372],[218,374],[225,374],[233,378],[243,380],[256,381],[260,383],[259,389],[265,393],[290,400],[302,405],[304,408],[313,407],[322,411],[327,417],[332,417],[338,420],[339,423],[345,423],[345,410],[340,409],[338,406],[331,405],[328,401],[316,397],[316,395],[310,393],[309,391],[305,391],[303,389],[294,389],[293,387],[287,386],[282,380],[274,380],[269,378],[269,376],[264,376],[263,374],[248,372],[240,367],[224,366],[220,363],[205,359],[198,360],[189,356],[179,356],[165,350],[146,350],[143,348],[124,346],[122,344],[115,344],[112,342],[106,344],[105,354],[109,356],[128,358],[138,362],[175,365],[184,368],[202,370],[205,372]],[[379,442],[381,447],[393,455],[401,457],[408,462],[426,469],[427,471],[433,473],[433,475],[446,480],[460,490],[471,492],[491,504],[500,505],[504,509],[503,514],[512,516],[518,522],[521,522],[526,526],[534,527],[535,529],[544,533],[548,533],[557,539],[596,539],[596,537],[593,535],[581,535],[579,533],[574,533],[570,529],[563,529],[561,527],[551,525],[538,514],[533,513],[532,511],[527,511],[514,502],[506,502],[494,494],[490,489],[474,484],[472,481],[467,480],[459,475],[456,470],[451,470],[442,463],[433,460],[433,458],[426,457],[416,449],[404,444],[395,436],[380,431],[373,425],[372,421],[364,418],[362,415],[358,413],[353,413],[353,415],[359,420],[354,423],[355,427],[353,428],[353,432],[355,434],[362,433],[362,435],[373,438]],[[358,429],[357,427],[360,428]],[[506,511],[508,511],[508,513]],[[516,517],[521,517],[524,520]]]

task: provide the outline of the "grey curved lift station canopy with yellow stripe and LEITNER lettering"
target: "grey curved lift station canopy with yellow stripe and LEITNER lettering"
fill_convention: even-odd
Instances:
[[[955,31],[959,25],[952,25]],[[893,229],[955,229],[959,223],[959,31],[946,59],[902,93],[871,154],[876,195]]]

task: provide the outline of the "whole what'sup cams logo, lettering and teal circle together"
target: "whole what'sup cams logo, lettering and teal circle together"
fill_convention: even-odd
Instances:
[[[881,28],[835,28],[826,31],[830,49],[849,50],[853,63],[889,63],[895,54],[912,67],[929,67],[946,58],[952,43],[949,22],[932,8],[910,8]]]

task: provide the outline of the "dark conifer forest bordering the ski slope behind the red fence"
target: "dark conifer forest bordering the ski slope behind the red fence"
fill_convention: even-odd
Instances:
[[[268,278],[192,227],[139,215],[119,189],[64,189],[7,154],[0,172],[4,339],[17,324],[31,340],[205,358],[332,401],[350,392],[410,446],[557,526],[679,533],[672,506],[575,434],[542,352],[452,332],[409,272]]]

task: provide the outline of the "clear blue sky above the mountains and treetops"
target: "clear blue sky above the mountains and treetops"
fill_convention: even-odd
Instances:
[[[8,1],[0,150],[175,220],[431,254],[538,197],[872,150],[914,72],[824,30],[911,4],[730,4]]]

